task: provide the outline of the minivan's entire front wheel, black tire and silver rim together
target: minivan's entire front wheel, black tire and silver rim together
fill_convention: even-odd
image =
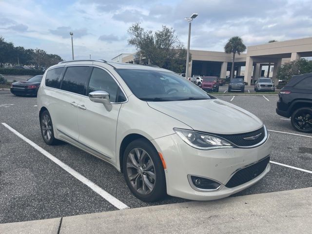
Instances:
[[[142,201],[152,202],[166,195],[166,178],[154,146],[146,139],[131,142],[123,155],[123,175],[130,191]]]

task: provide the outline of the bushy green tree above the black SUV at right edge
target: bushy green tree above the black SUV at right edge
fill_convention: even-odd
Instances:
[[[292,76],[312,72],[312,60],[297,59],[284,64],[277,70],[276,78],[290,80]]]

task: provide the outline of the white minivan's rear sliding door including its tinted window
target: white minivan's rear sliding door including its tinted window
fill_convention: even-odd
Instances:
[[[57,131],[58,135],[68,141],[78,141],[79,128],[77,111],[79,98],[86,90],[86,83],[90,78],[92,67],[69,66],[58,91]]]

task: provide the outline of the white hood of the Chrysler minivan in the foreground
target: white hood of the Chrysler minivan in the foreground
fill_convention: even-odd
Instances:
[[[148,102],[148,105],[194,130],[207,133],[239,134],[252,132],[263,126],[258,117],[219,99]]]

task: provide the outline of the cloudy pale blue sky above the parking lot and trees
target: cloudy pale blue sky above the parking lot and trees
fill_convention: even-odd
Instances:
[[[134,53],[127,29],[162,25],[187,46],[185,17],[192,22],[191,49],[223,51],[240,36],[245,45],[312,37],[312,0],[0,0],[0,36],[15,46],[40,48],[75,59],[106,59]]]

